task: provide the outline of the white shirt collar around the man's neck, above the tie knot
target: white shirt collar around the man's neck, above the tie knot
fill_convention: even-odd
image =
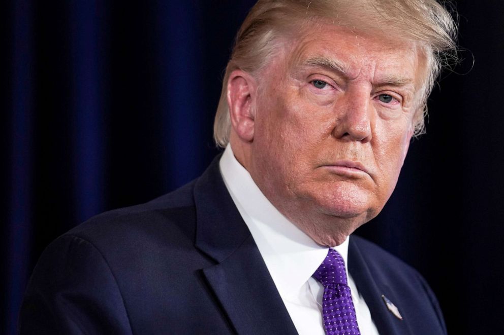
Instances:
[[[328,248],[314,242],[283,216],[259,190],[228,144],[219,162],[224,183],[254,237],[280,295],[298,294],[321,265]],[[348,259],[348,237],[334,249]],[[348,276],[348,266],[346,266]]]

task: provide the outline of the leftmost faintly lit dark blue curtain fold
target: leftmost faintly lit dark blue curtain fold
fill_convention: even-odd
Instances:
[[[31,222],[33,221],[33,6],[29,1],[13,4],[10,184],[4,199],[9,199],[9,217],[5,221],[8,245],[5,274],[6,333],[16,329],[17,311],[31,272]]]

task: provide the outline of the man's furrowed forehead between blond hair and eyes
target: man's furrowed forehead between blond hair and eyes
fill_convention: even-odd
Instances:
[[[333,24],[307,29],[288,47],[285,66],[323,66],[348,79],[411,81],[420,88],[426,76],[422,49],[394,36],[356,32]]]

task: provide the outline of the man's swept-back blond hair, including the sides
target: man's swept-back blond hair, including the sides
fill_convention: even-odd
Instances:
[[[427,57],[428,76],[414,118],[414,134],[425,132],[427,98],[440,70],[456,61],[457,26],[449,11],[435,0],[259,0],[236,35],[226,67],[214,123],[217,145],[229,142],[231,121],[227,101],[230,73],[235,69],[258,76],[283,48],[281,41],[299,36],[308,23],[325,20],[354,30],[419,43]]]

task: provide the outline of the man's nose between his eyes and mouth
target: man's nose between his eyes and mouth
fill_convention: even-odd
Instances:
[[[370,94],[346,92],[335,105],[336,124],[334,137],[347,141],[369,142],[372,138],[374,118]]]

